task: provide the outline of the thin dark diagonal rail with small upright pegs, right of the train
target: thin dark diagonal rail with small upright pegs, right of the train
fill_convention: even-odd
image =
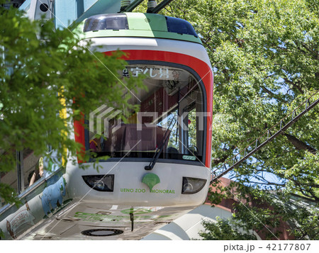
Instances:
[[[310,111],[313,107],[315,107],[317,104],[319,103],[319,99],[315,100],[313,103],[310,104],[309,99],[307,99],[306,101],[306,108],[299,113],[297,116],[295,116],[296,114],[296,109],[293,110],[292,114],[291,114],[291,120],[289,121],[289,123],[287,123],[286,125],[282,126],[282,120],[280,121],[280,129],[279,131],[277,131],[276,133],[274,133],[272,135],[272,133],[270,132],[270,130],[267,131],[267,140],[262,142],[262,144],[258,145],[258,140],[255,140],[255,147],[253,150],[251,150],[248,154],[246,153],[246,149],[244,150],[244,156],[237,161],[237,155],[240,154],[241,152],[239,152],[238,154],[236,154],[231,160],[233,160],[233,164],[226,168],[226,164],[229,162],[229,160],[227,162],[224,162],[222,166],[218,167],[218,169],[220,169],[221,167],[224,167],[225,169],[223,170],[223,172],[220,172],[219,174],[216,175],[216,171],[218,169],[216,169],[215,171],[213,171],[213,179],[211,182],[216,181],[217,179],[219,179],[220,177],[222,177],[223,175],[227,174],[228,172],[230,172],[232,169],[234,169],[237,165],[241,164],[242,162],[245,161],[245,159],[247,159],[248,157],[252,156],[252,154],[254,154],[255,152],[257,152],[258,150],[260,150],[262,147],[264,147],[264,145],[267,145],[268,142],[274,140],[275,137],[277,137],[278,135],[280,135],[281,133],[284,133],[285,130],[287,130],[288,128],[291,127],[291,125],[293,125],[293,123],[295,123],[296,121],[298,121],[301,116],[303,116],[304,114],[306,114],[308,111]],[[270,136],[269,136],[270,135]]]

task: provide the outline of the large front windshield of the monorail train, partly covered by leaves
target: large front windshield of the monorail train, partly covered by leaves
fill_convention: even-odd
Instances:
[[[103,106],[89,117],[86,149],[99,156],[203,162],[206,113],[203,91],[190,72],[162,65],[131,64],[122,79],[143,74],[146,89],[131,96],[129,115]],[[127,114],[127,112],[125,113]]]

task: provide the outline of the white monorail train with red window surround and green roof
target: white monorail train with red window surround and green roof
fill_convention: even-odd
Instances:
[[[32,150],[18,153],[23,205],[0,209],[1,240],[139,240],[205,201],[211,179],[213,73],[207,52],[187,21],[153,13],[99,14],[79,24],[90,50],[125,52],[119,77],[145,75],[130,118],[101,106],[74,123],[74,138],[109,159],[54,168]],[[23,165],[23,166],[22,166]],[[52,173],[45,173],[46,167]],[[45,176],[29,186],[36,167]]]

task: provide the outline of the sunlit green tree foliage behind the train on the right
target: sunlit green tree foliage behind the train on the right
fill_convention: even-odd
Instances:
[[[191,22],[211,59],[213,168],[319,88],[317,0],[184,0],[162,13]],[[250,196],[274,207],[236,207],[234,219],[247,229],[274,238],[281,218],[297,239],[318,240],[318,107],[231,174],[242,200]],[[213,193],[213,203],[228,193],[228,187]],[[311,201],[293,202],[292,193]]]

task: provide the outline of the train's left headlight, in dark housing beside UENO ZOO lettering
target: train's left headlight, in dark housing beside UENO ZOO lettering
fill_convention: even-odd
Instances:
[[[114,175],[82,176],[84,182],[96,191],[113,191]]]

